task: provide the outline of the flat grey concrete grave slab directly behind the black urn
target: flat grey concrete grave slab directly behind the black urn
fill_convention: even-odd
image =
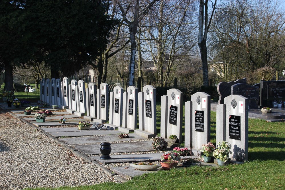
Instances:
[[[153,141],[113,143],[111,144],[111,153],[152,151],[152,142]],[[74,147],[84,154],[101,154],[100,144],[76,145]]]

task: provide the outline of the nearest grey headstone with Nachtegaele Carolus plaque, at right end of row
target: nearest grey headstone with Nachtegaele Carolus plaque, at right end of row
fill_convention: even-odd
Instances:
[[[249,99],[241,95],[230,95],[224,100],[225,106],[217,107],[217,120],[225,118],[220,120],[220,124],[217,123],[217,143],[225,140],[231,144],[231,160],[247,161]]]

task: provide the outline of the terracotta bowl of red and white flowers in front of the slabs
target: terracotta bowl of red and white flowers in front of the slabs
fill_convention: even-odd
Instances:
[[[160,164],[163,169],[169,170],[173,167],[177,167],[180,155],[176,152],[166,152],[162,154]]]

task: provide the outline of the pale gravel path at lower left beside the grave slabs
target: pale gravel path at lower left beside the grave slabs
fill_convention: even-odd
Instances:
[[[0,189],[118,182],[0,109]]]

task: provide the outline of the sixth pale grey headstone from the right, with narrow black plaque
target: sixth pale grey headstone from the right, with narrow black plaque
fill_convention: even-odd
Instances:
[[[109,124],[113,126],[122,125],[123,115],[123,88],[120,86],[114,87],[114,91],[110,93],[110,118]]]

